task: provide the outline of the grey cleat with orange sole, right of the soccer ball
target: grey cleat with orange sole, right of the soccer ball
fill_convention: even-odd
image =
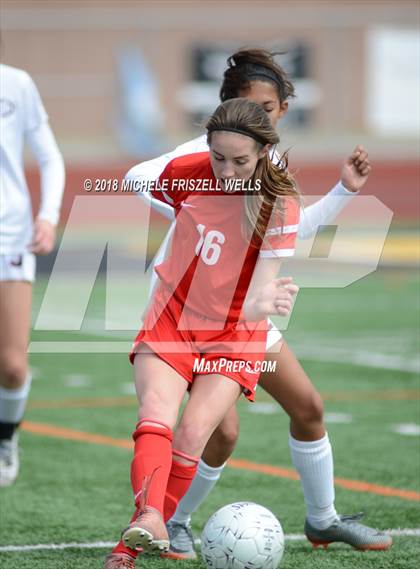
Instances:
[[[385,550],[392,545],[390,535],[358,523],[363,513],[352,516],[338,516],[326,529],[317,529],[305,521],[305,535],[314,547],[322,545],[324,549],[333,542],[343,542],[355,549]]]

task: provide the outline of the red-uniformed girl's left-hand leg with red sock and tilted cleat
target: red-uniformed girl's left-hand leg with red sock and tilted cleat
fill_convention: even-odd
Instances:
[[[133,433],[131,484],[137,509],[124,530],[129,548],[163,551],[169,546],[163,521],[165,491],[172,465],[172,430],[187,388],[173,367],[141,346],[134,360],[139,421]]]

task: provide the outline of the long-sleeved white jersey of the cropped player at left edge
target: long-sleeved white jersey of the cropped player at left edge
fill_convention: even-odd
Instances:
[[[27,252],[32,207],[23,149],[31,145],[41,168],[39,217],[57,223],[64,167],[38,90],[25,71],[0,64],[0,254]]]

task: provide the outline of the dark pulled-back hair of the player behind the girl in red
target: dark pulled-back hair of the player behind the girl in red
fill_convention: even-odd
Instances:
[[[286,71],[275,62],[280,52],[265,49],[240,49],[227,59],[227,69],[223,74],[220,100],[227,101],[240,96],[250,88],[251,81],[265,81],[274,85],[280,102],[295,96],[293,83]]]

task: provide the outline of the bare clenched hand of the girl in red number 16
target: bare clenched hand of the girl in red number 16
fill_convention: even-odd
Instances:
[[[289,316],[293,307],[293,297],[298,290],[299,287],[293,283],[292,277],[274,279],[262,287],[255,301],[255,310],[263,315],[263,318],[270,314]]]

